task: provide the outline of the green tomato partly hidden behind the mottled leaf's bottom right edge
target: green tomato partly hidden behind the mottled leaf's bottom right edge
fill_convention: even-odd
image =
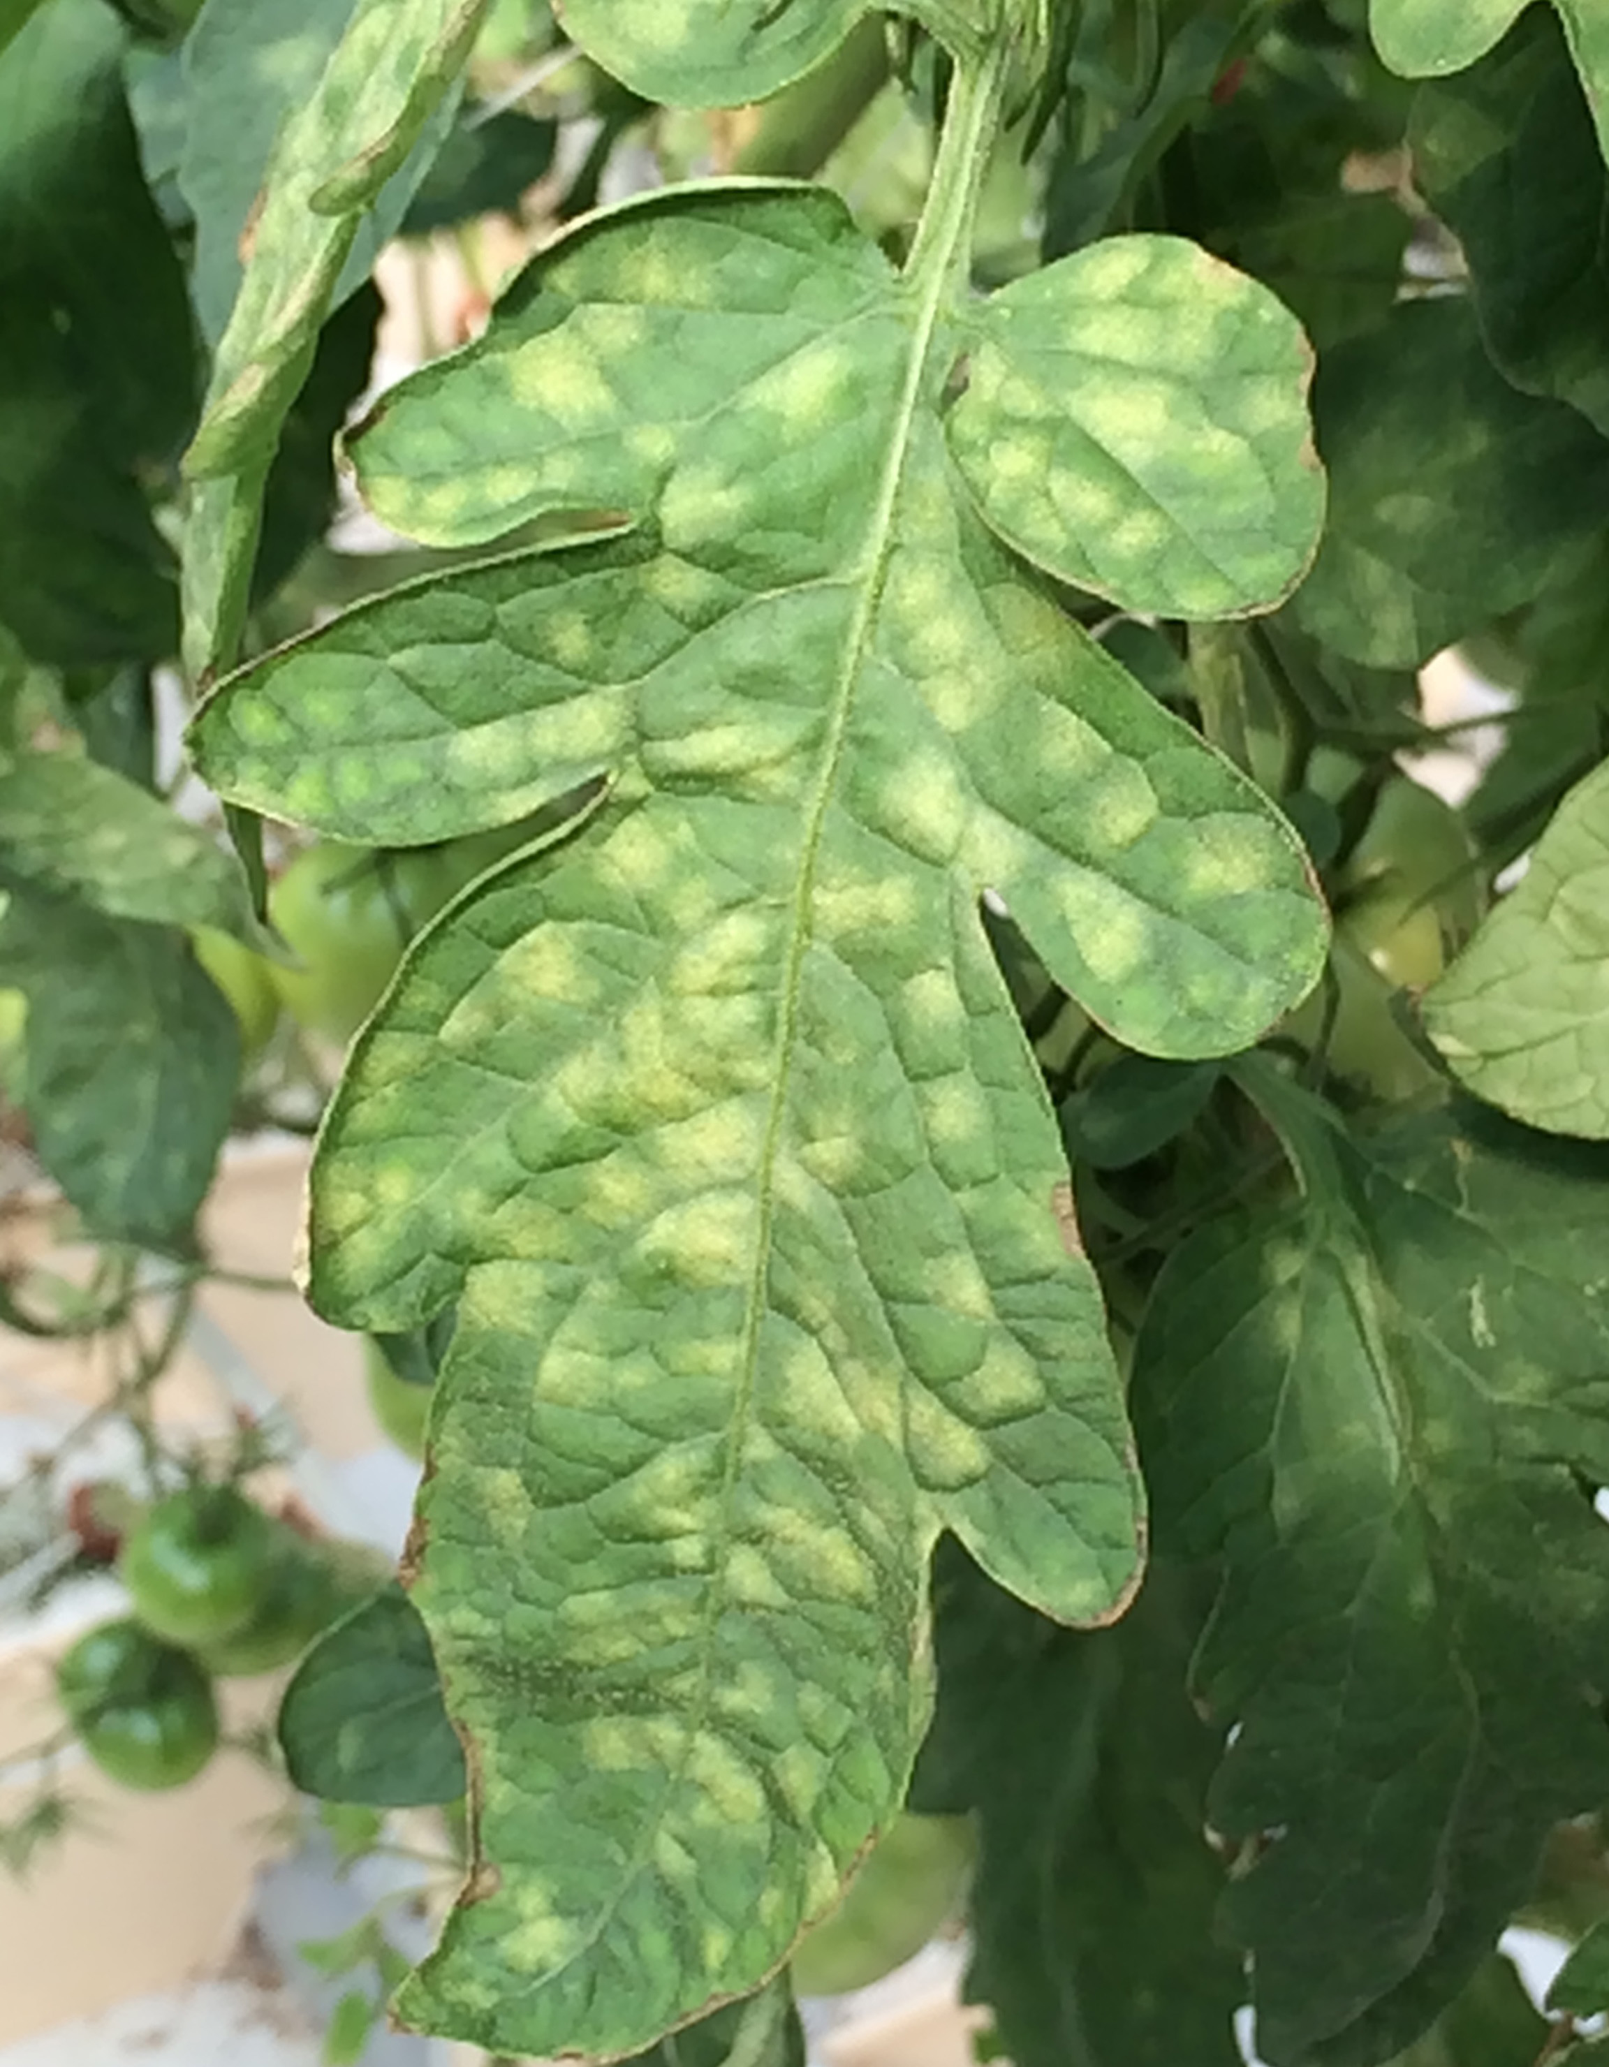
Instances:
[[[970,1817],[895,1817],[840,1906],[800,1939],[794,1991],[848,1995],[912,1960],[960,1908],[974,1850]]]

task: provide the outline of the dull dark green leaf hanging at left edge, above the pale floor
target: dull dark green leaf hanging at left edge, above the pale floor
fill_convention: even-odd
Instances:
[[[0,965],[29,1000],[39,1162],[103,1240],[184,1246],[230,1127],[234,1011],[184,934],[10,891]]]

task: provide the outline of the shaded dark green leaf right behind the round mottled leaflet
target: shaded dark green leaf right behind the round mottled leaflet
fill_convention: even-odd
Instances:
[[[1609,517],[1609,444],[1516,393],[1460,300],[1398,306],[1313,387],[1330,521],[1291,606],[1367,668],[1417,668],[1528,601]]]

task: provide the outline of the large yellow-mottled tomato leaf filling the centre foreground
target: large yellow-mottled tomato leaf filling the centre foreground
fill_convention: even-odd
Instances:
[[[976,155],[978,89],[951,120]],[[422,537],[565,506],[623,529],[376,599],[196,726],[234,800],[395,843],[610,781],[418,943],[312,1199],[325,1313],[401,1329],[459,1300],[414,1598],[480,1871],[401,2011],[490,2048],[639,2048],[831,1906],[922,1734],[941,1528],[1069,1623],[1133,1583],[1100,1298],[980,889],[1162,1050],[1251,1040],[1324,953],[1272,806],[978,513],[1046,564],[1073,550],[991,471],[993,411],[1069,496],[1094,475],[1109,531],[1144,517],[1125,581],[1195,579],[1195,542],[1272,601],[1319,515],[1299,333],[1183,246],[1111,248],[1135,378],[1216,397],[1231,432],[1214,517],[1164,471],[1142,490],[1121,411],[1123,465],[1040,420],[1090,260],[1055,325],[978,306],[966,223],[939,207],[904,277],[809,188],[575,232],[356,459]],[[968,397],[962,438],[951,370],[1018,337],[1020,387]]]

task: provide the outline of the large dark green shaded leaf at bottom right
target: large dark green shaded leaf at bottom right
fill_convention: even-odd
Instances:
[[[1603,1155],[1470,1114],[1336,1143],[1305,1207],[1158,1279],[1133,1399],[1158,1546],[1224,1565],[1197,1678],[1257,2050],[1379,2061],[1603,1800]]]

